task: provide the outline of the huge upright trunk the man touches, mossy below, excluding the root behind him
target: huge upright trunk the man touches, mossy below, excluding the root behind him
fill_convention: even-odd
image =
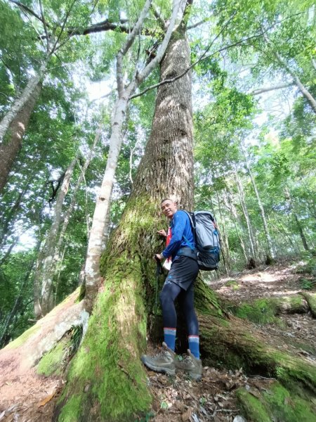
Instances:
[[[185,32],[178,31],[164,56],[161,79],[179,75],[189,64]],[[162,248],[156,231],[166,224],[159,218],[159,203],[173,196],[180,207],[192,210],[192,169],[188,72],[175,83],[159,87],[152,134],[119,228],[101,261],[105,286],[70,368],[56,412],[60,421],[70,412],[74,421],[127,421],[150,406],[140,354],[146,345],[147,314],[154,307],[152,255]]]

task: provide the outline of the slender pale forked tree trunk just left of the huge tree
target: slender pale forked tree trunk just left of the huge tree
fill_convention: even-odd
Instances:
[[[126,39],[124,46],[122,46],[119,53],[117,54],[118,98],[114,106],[114,113],[112,117],[112,133],[110,137],[110,150],[107,158],[107,166],[105,168],[100,193],[98,195],[96,208],[93,214],[93,222],[91,226],[91,233],[89,236],[88,251],[86,256],[85,307],[88,312],[91,311],[91,307],[93,305],[94,299],[96,298],[96,293],[98,292],[98,285],[100,282],[100,255],[103,251],[103,240],[106,231],[105,221],[110,207],[114,174],[117,168],[117,161],[119,158],[119,152],[121,150],[122,143],[121,128],[125,122],[128,102],[131,99],[131,96],[136,90],[136,88],[145,80],[148,75],[150,75],[150,72],[152,72],[152,70],[156,67],[160,60],[162,60],[162,56],[164,55],[166,48],[169,44],[169,39],[173,32],[173,28],[176,26],[178,13],[180,13],[181,16],[183,15],[183,5],[185,4],[185,0],[173,0],[173,8],[171,18],[169,20],[169,26],[166,30],[162,43],[157,49],[156,56],[150,61],[150,63],[145,66],[145,68],[141,72],[138,72],[138,70],[135,68],[135,72],[133,77],[131,78],[131,82],[129,82],[126,87],[123,78],[123,59],[125,58],[126,53],[129,51],[131,46],[133,45],[133,42],[136,39],[136,34],[140,32],[140,29],[143,25],[151,3],[152,1],[150,0],[147,0],[145,2],[143,10],[140,12],[138,22],[133,27],[133,30],[131,31],[131,34],[129,34],[129,37]]]

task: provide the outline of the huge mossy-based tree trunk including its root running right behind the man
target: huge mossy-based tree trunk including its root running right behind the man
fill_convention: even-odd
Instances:
[[[178,32],[164,57],[162,79],[178,75],[188,63],[185,33]],[[70,366],[56,421],[128,421],[150,406],[140,354],[146,334],[159,325],[150,324],[156,290],[152,255],[163,247],[155,233],[165,221],[159,203],[173,196],[180,207],[192,209],[191,119],[190,75],[159,87],[152,134],[131,198],[101,260],[105,284]],[[233,369],[260,370],[315,388],[315,366],[275,349],[251,324],[225,316],[202,281],[195,302],[205,364],[221,361]]]

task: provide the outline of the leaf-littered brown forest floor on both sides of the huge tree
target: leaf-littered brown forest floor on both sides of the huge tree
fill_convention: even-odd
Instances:
[[[298,266],[298,262],[279,262],[211,281],[209,286],[221,298],[235,305],[258,298],[294,295],[301,293],[304,287],[310,287],[311,281],[310,275],[297,272]],[[307,291],[315,293],[316,287]],[[279,338],[287,338],[287,343],[289,338],[293,343],[298,340],[307,342],[309,351],[301,348],[296,353],[316,362],[316,355],[312,352],[316,350],[315,319],[310,314],[280,314],[279,319],[283,324],[258,325],[256,328],[269,335],[276,344]],[[169,377],[148,371],[147,377],[154,402],[152,411],[142,419],[143,422],[244,422],[246,420],[237,407],[235,390],[245,387],[258,397],[259,392],[268,390],[273,381],[262,376],[247,376],[242,368],[226,371],[212,367],[204,367],[201,381],[190,381],[182,373]],[[38,376],[34,369],[5,385],[1,385],[0,379],[0,421],[51,421],[63,383],[59,377]]]

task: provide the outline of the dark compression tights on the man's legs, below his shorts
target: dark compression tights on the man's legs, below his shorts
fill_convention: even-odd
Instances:
[[[160,302],[162,303],[162,316],[164,327],[176,328],[177,314],[174,301],[178,298],[179,304],[185,314],[188,335],[199,335],[199,323],[194,308],[194,290],[193,283],[187,291],[180,288],[178,284],[169,282],[164,284],[162,293],[160,293]]]

